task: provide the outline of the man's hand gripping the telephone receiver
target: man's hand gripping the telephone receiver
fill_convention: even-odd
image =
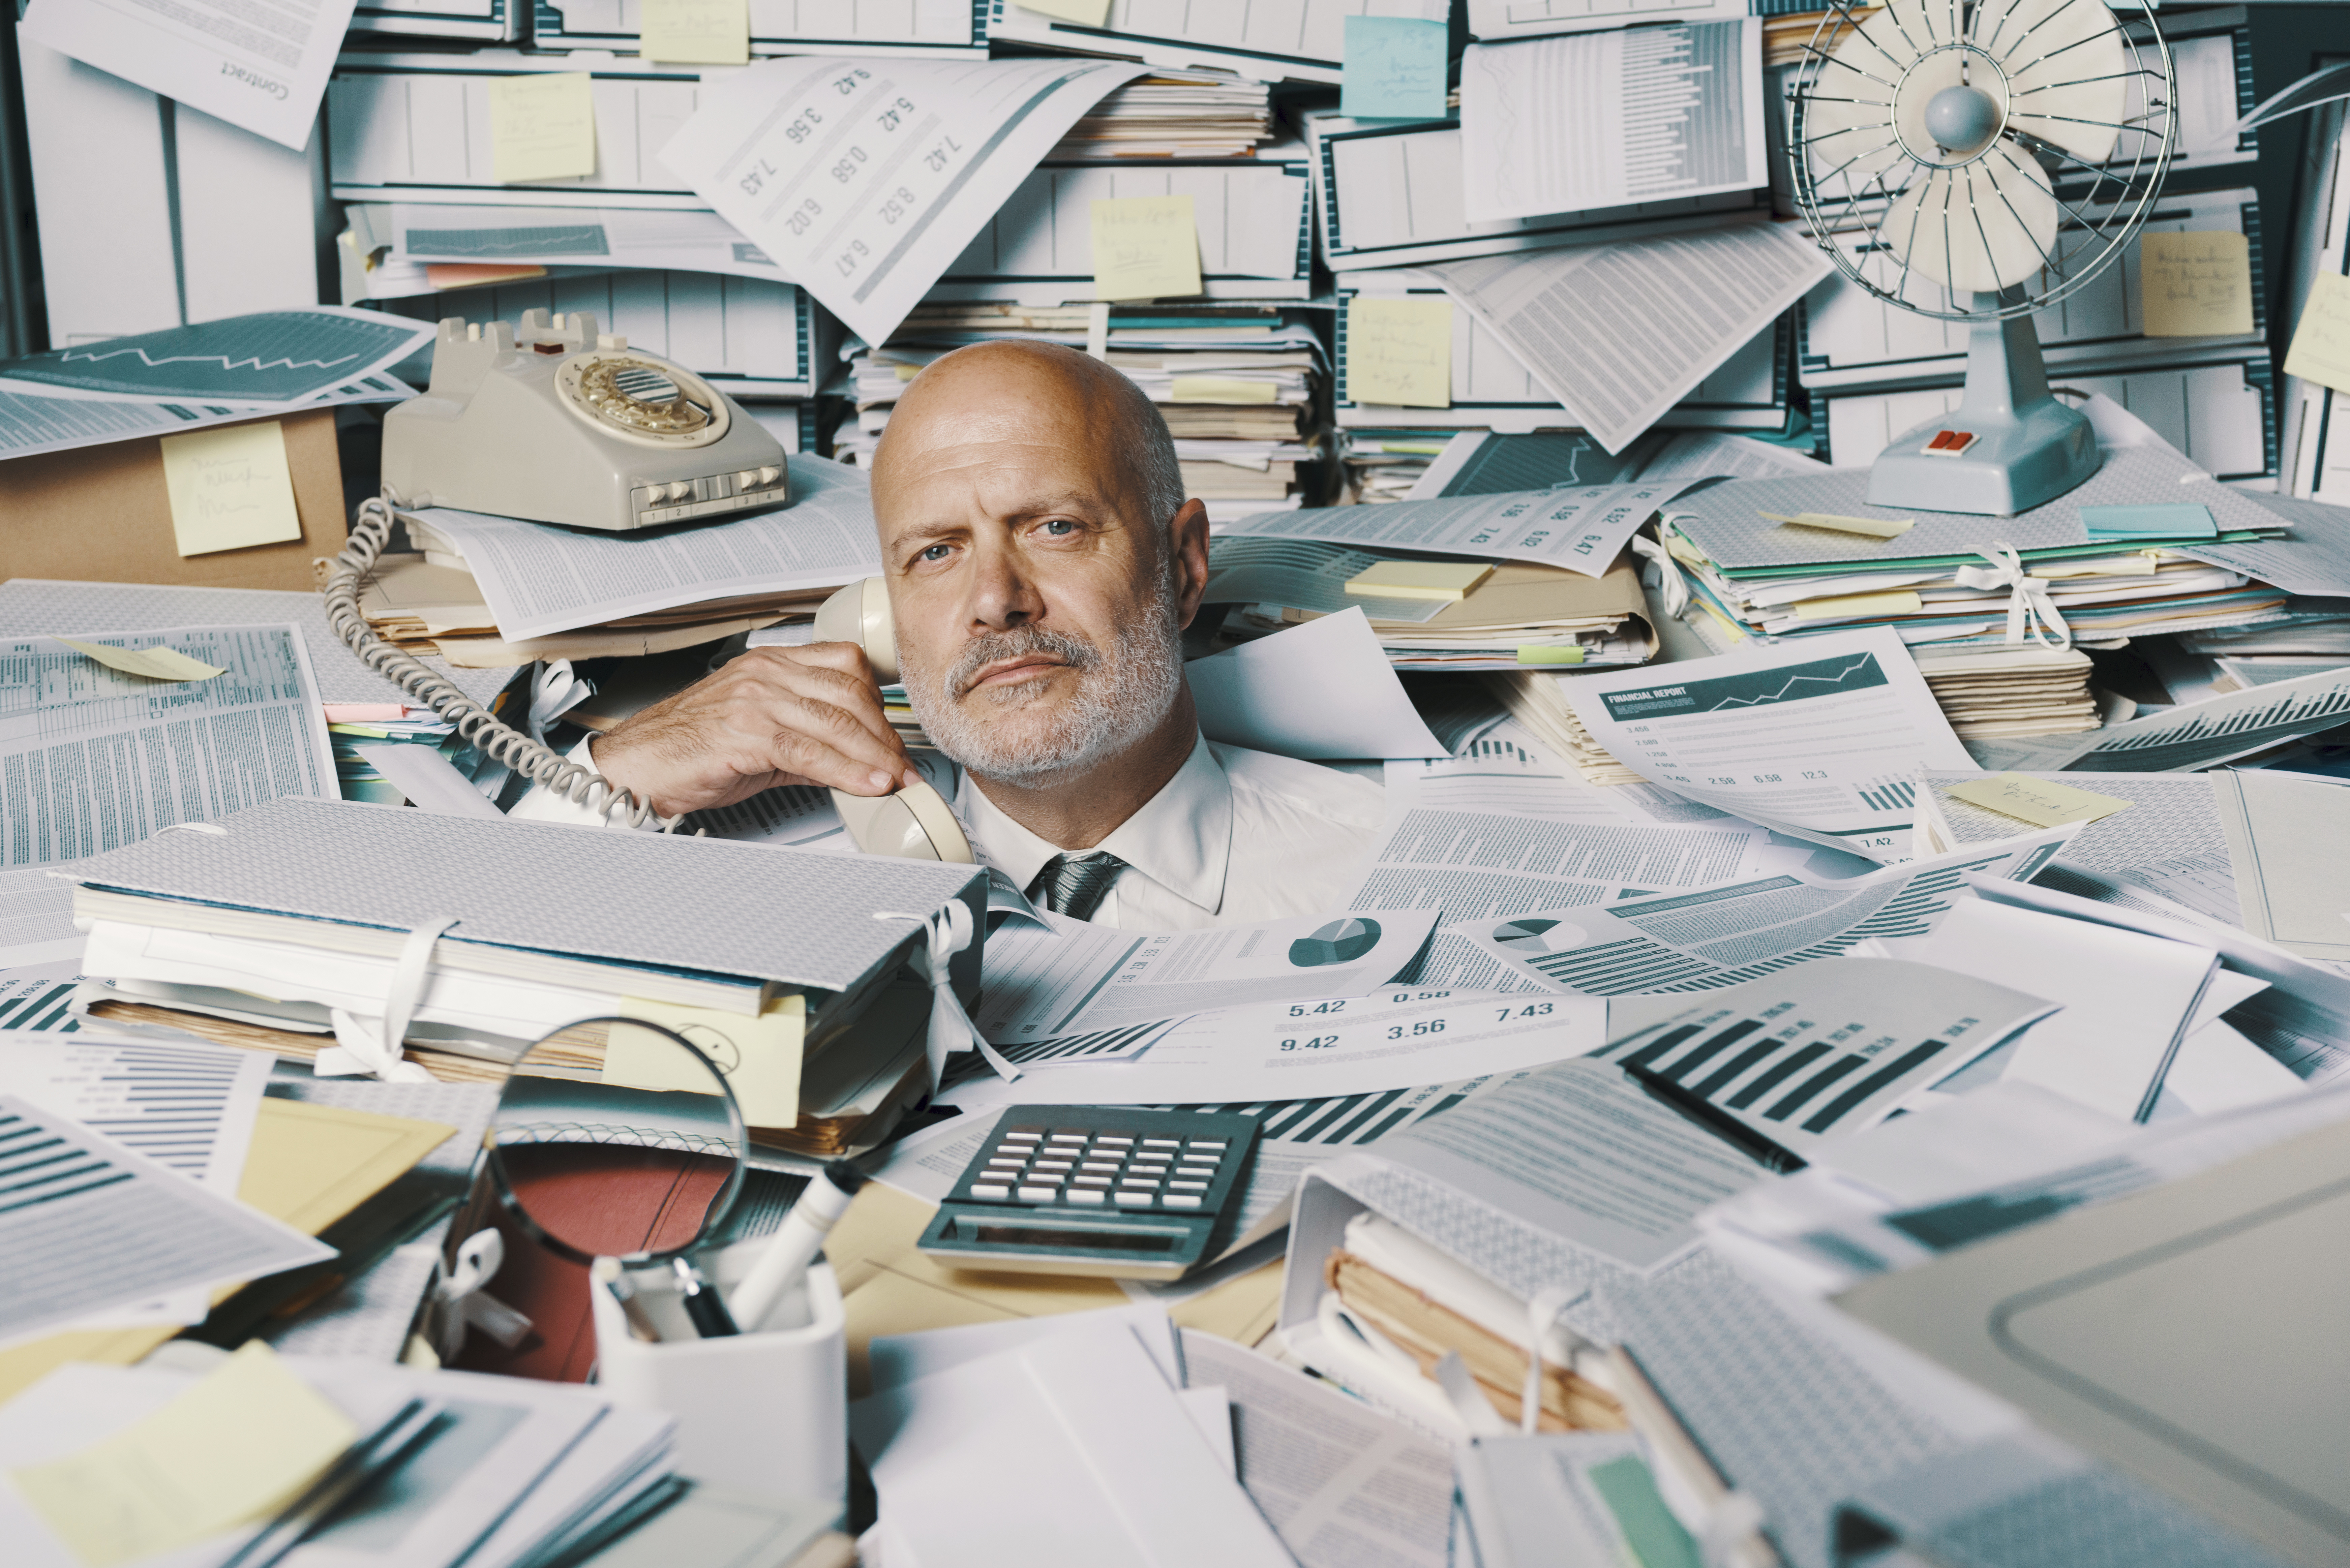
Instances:
[[[881,712],[865,649],[752,649],[625,719],[592,748],[597,773],[677,816],[787,783],[891,795],[921,773]]]

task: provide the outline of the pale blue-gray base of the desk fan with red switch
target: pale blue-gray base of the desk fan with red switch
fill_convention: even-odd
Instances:
[[[1948,433],[1974,440],[1953,442]],[[1868,505],[2014,517],[2066,494],[2099,463],[2089,421],[2054,397],[2014,414],[1960,407],[1878,454]]]

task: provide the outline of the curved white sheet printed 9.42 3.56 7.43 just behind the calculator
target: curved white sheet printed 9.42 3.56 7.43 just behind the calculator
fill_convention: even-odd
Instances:
[[[1394,987],[1328,1001],[1198,1013],[1130,1063],[1081,1063],[956,1088],[956,1105],[1208,1105],[1377,1095],[1434,1079],[1523,1072],[1596,1051],[1607,1006],[1589,997]]]

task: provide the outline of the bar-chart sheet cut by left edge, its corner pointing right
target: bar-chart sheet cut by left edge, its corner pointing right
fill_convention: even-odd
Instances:
[[[0,1345],[172,1291],[334,1258],[331,1246],[146,1154],[0,1093],[0,1180],[35,1161],[54,1197],[0,1211],[0,1253],[9,1260],[0,1279]]]

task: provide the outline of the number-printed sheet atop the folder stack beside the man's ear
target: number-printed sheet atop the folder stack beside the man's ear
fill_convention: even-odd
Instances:
[[[1624,550],[1624,541],[1685,489],[1690,489],[1690,480],[1448,496],[1389,505],[1330,505],[1257,512],[1241,517],[1222,534],[1476,555],[1605,576],[1617,552]],[[1375,512],[1375,517],[1349,517],[1347,512]]]

